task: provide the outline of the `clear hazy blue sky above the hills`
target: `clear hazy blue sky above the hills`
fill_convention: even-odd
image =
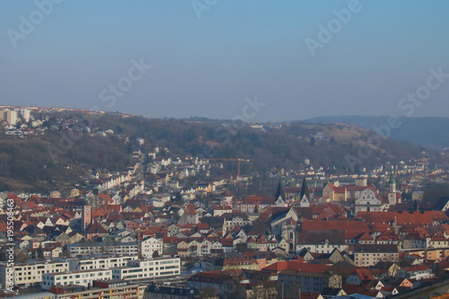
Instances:
[[[413,111],[398,108],[430,68],[449,74],[447,0],[65,0],[37,11],[48,1],[0,1],[0,103],[232,119],[257,95],[266,105],[245,110],[249,121],[448,116],[445,77],[422,104],[401,102]],[[334,33],[313,57],[306,39],[320,42],[320,24]],[[152,68],[129,81],[142,58]],[[108,91],[119,80],[132,82],[121,97]]]

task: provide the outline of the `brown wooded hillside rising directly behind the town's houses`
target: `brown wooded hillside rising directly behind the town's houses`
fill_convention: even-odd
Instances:
[[[145,138],[146,150],[154,146],[166,147],[174,157],[251,159],[251,163],[242,163],[242,173],[268,171],[273,167],[298,169],[304,157],[315,167],[348,171],[346,155],[358,157],[357,151],[363,145],[372,153],[359,161],[357,168],[419,158],[423,150],[391,139],[383,140],[379,148],[374,148],[366,143],[374,133],[349,125],[295,122],[282,128],[251,128],[246,124],[216,120],[122,118],[108,114],[92,120],[91,132],[110,129],[113,134],[101,136],[84,132],[81,138],[64,148],[55,163],[48,154],[48,146],[59,148],[63,136],[69,136],[70,132],[67,127],[57,126],[57,119],[70,119],[68,123],[79,128],[76,119],[84,119],[84,116],[52,114],[45,126],[53,131],[48,129],[43,136],[0,134],[0,190],[73,186],[76,178],[92,167],[123,171],[137,138]]]

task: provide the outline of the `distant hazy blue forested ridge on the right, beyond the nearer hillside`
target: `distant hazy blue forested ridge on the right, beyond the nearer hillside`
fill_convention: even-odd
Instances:
[[[401,126],[392,129],[393,139],[443,149],[449,147],[449,118],[400,118]],[[341,123],[373,130],[388,124],[388,117],[339,116],[307,119],[312,123]]]

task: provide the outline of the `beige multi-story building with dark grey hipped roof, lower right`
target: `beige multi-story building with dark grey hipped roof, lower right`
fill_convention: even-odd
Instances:
[[[357,267],[374,266],[379,261],[399,261],[398,245],[357,244],[354,245],[354,261]]]

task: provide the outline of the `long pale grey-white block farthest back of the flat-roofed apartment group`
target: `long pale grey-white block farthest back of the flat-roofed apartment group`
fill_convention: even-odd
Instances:
[[[122,243],[107,243],[107,242],[93,242],[93,243],[73,243],[67,245],[70,254],[75,256],[89,256],[99,253],[113,253],[119,255],[137,255],[136,242],[122,242]]]

